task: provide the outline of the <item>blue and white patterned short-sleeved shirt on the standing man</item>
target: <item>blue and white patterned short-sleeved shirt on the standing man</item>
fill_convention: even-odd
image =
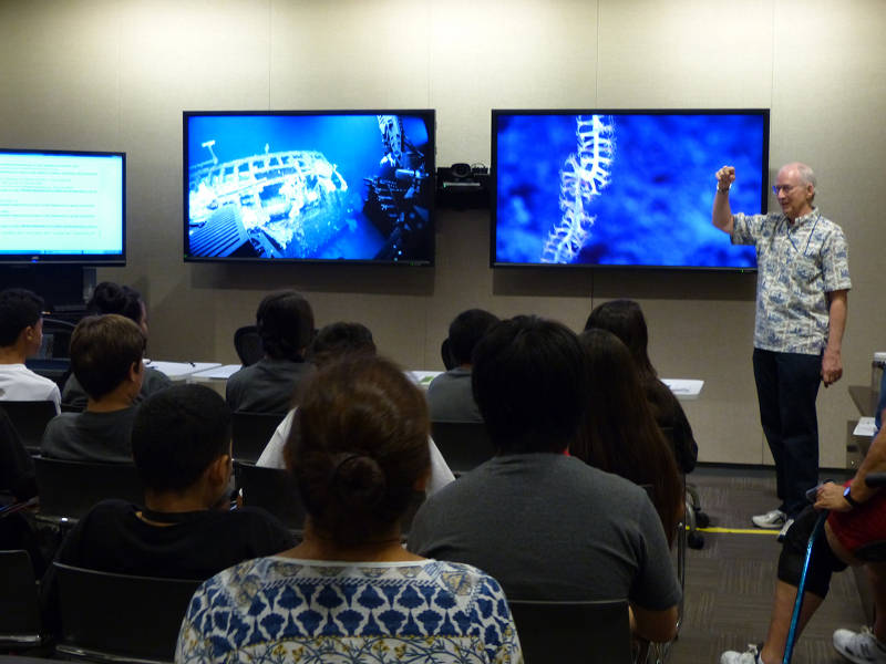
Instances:
[[[827,345],[826,293],[852,288],[843,229],[818,208],[793,225],[781,212],[732,220],[732,243],[756,247],[754,347],[818,355]]]

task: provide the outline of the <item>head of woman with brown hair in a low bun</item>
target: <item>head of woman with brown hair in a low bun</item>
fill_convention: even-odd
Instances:
[[[424,394],[389,360],[320,369],[286,448],[317,531],[344,544],[390,535],[430,476],[429,430]]]

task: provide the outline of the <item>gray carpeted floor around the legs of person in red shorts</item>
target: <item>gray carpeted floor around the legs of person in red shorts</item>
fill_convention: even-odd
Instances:
[[[712,527],[753,529],[751,516],[777,507],[774,475],[764,469],[698,468],[689,476]],[[755,529],[754,529],[755,530]],[[762,642],[769,625],[780,544],[775,531],[704,533],[704,548],[690,549],[686,610],[672,664],[717,664],[724,650]],[[852,570],[835,574],[831,593],[794,650],[796,664],[846,664],[834,651],[837,627],[864,623]]]

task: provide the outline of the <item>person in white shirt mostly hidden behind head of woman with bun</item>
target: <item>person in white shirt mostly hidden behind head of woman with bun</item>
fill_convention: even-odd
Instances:
[[[317,333],[308,352],[310,360],[320,369],[346,355],[370,357],[375,355],[375,342],[369,328],[361,323],[331,323]],[[289,438],[289,430],[292,428],[295,414],[296,408],[286,414],[261,452],[261,456],[258,457],[256,466],[286,468],[284,449]],[[446,486],[455,477],[431,438],[427,438],[427,445],[431,453],[431,480],[427,484],[430,495]]]

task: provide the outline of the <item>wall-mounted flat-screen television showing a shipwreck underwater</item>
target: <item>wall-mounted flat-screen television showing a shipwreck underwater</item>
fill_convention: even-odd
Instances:
[[[190,261],[434,260],[434,112],[184,113]]]

